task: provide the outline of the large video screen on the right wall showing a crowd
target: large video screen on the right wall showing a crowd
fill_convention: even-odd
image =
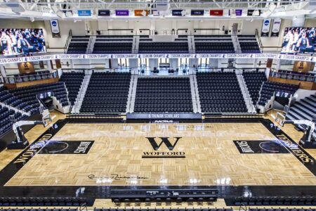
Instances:
[[[287,27],[281,53],[314,53],[315,44],[315,27]]]

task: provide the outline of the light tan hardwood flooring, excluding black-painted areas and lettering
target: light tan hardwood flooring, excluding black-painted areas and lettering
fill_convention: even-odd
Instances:
[[[27,133],[30,141],[44,132],[39,127]],[[282,129],[295,141],[301,138],[291,125]],[[178,140],[173,151],[159,137],[168,137],[171,145]],[[94,141],[88,153],[38,153],[6,186],[315,185],[315,175],[293,154],[242,154],[233,142],[272,140],[275,136],[261,123],[70,123],[51,142]],[[157,151],[154,143],[161,143]],[[163,152],[185,158],[143,158]],[[315,150],[308,152],[315,158]],[[18,153],[1,152],[0,158],[8,156],[1,167]]]

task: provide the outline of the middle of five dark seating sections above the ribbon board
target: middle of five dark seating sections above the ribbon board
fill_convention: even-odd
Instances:
[[[139,53],[188,53],[189,46],[187,42],[140,42]]]

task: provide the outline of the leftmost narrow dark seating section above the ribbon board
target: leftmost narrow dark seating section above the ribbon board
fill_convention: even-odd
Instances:
[[[90,36],[72,36],[67,53],[86,53]]]

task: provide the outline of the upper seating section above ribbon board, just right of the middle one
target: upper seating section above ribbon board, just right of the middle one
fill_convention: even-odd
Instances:
[[[230,35],[195,35],[195,53],[235,53]]]

